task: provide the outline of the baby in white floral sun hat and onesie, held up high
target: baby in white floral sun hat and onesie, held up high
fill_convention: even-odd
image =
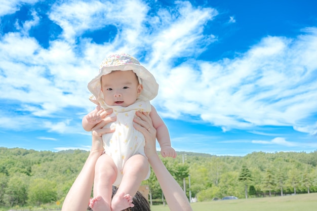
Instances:
[[[149,112],[162,156],[176,157],[167,126],[149,102],[157,95],[159,85],[137,59],[128,54],[114,54],[103,60],[88,89],[93,94],[90,100],[97,107],[83,118],[86,131],[91,131],[105,117],[106,109],[112,108],[110,115],[116,116],[116,121],[105,126],[115,131],[102,135],[105,153],[95,166],[90,207],[94,211],[120,211],[134,206],[132,197],[142,180],[150,176],[144,136],[133,127],[136,111]],[[118,190],[111,200],[112,185],[118,186]]]

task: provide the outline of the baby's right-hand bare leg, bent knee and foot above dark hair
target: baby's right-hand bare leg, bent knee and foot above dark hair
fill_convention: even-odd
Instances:
[[[122,207],[122,202],[126,199],[123,199],[123,197],[131,197],[132,199],[138,191],[141,182],[147,176],[148,170],[147,158],[141,154],[133,155],[127,160],[123,169],[122,182],[111,201],[111,210],[122,210],[129,206],[134,206],[134,204],[130,204],[127,207]]]

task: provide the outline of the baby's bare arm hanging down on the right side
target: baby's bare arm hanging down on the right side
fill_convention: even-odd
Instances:
[[[150,117],[153,122],[153,126],[156,129],[156,139],[161,147],[161,154],[163,157],[176,157],[176,151],[171,146],[171,139],[169,130],[166,124],[159,114],[157,114],[154,106],[151,105]]]

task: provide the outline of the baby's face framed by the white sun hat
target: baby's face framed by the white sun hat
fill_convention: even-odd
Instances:
[[[140,96],[142,85],[132,70],[116,70],[101,77],[101,90],[107,105],[132,105]]]

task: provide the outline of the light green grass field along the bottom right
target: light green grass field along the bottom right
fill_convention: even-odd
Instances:
[[[266,198],[220,200],[191,203],[194,211],[316,211],[317,193]],[[168,206],[155,205],[152,211],[169,211]]]

